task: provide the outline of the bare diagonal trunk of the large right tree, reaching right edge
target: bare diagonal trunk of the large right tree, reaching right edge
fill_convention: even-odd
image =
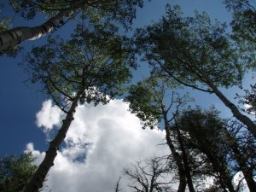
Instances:
[[[236,105],[230,100],[228,100],[227,97],[225,97],[222,92],[218,90],[218,88],[212,84],[210,79],[207,79],[207,84],[212,88],[213,92],[218,96],[218,98],[224,102],[224,105],[228,108],[230,108],[231,112],[233,113],[234,117],[236,119],[240,120],[241,123],[247,126],[247,130],[250,131],[253,134],[253,137],[256,138],[256,125],[253,123],[251,119],[249,119],[246,115],[243,115],[238,108],[236,108]]]

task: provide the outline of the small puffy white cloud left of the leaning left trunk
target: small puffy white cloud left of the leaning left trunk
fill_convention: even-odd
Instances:
[[[44,131],[51,130],[54,125],[60,122],[61,109],[53,106],[51,100],[43,102],[42,109],[36,114],[37,125],[43,127]]]

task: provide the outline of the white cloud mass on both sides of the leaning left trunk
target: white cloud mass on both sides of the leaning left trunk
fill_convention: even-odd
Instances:
[[[61,111],[47,101],[37,118],[37,124],[44,125],[49,135],[53,125],[61,121]],[[66,146],[58,152],[44,191],[113,192],[125,166],[135,160],[170,154],[166,145],[158,145],[163,143],[164,132],[143,130],[140,121],[121,100],[97,107],[80,105],[74,118],[67,132]],[[27,151],[40,159],[44,156],[32,143],[27,145]],[[122,191],[131,191],[125,186],[128,182],[125,179],[121,180]]]

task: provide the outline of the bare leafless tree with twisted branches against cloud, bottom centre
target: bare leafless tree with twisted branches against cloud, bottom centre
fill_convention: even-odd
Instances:
[[[125,176],[133,180],[129,187],[137,192],[167,192],[172,189],[171,169],[166,158],[137,161],[125,168]]]

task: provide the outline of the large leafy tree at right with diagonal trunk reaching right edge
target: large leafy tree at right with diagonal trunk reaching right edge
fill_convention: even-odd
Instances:
[[[219,90],[241,85],[245,66],[224,30],[224,25],[212,23],[206,13],[183,17],[179,7],[167,5],[166,16],[137,30],[135,41],[155,71],[179,84],[214,93],[256,137],[253,120]]]

